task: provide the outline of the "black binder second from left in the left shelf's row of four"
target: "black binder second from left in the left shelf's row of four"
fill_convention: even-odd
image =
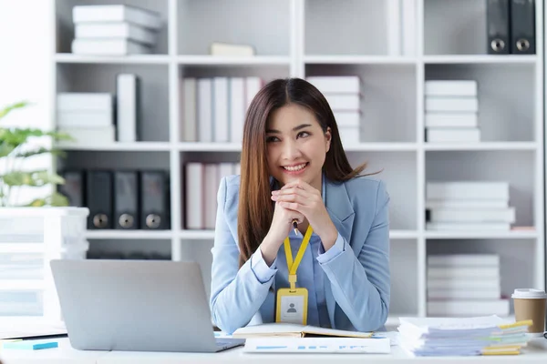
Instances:
[[[112,173],[105,170],[89,170],[86,175],[88,228],[112,228]]]

